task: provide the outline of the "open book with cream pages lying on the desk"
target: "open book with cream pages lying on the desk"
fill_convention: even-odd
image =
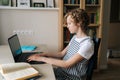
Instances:
[[[8,63],[0,64],[0,72],[5,80],[25,80],[40,75],[28,63]]]

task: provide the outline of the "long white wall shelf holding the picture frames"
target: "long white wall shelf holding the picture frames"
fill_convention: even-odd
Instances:
[[[9,7],[0,6],[0,9],[10,9],[10,10],[59,10],[59,8],[37,8],[37,7]]]

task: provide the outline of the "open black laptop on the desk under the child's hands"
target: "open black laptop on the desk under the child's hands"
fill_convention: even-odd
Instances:
[[[8,38],[8,44],[9,44],[9,47],[10,47],[10,50],[12,52],[12,55],[13,55],[15,62],[28,62],[27,58],[29,56],[31,56],[33,54],[37,54],[37,52],[27,52],[27,53],[25,52],[25,53],[23,53],[17,34],[14,34]],[[44,62],[30,61],[28,63],[30,63],[30,64],[42,64]]]

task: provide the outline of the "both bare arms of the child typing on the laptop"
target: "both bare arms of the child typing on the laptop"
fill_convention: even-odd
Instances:
[[[60,59],[55,59],[55,58],[51,58],[51,57],[58,57],[61,58],[65,55],[66,51],[67,51],[68,46],[60,53],[57,54],[40,54],[39,56],[30,56],[28,58],[28,61],[42,61],[42,62],[46,62],[48,64],[52,64],[58,67],[64,67],[64,68],[68,68],[71,67],[73,65],[75,65],[76,63],[78,63],[79,61],[81,61],[83,59],[83,57],[79,54],[76,53],[73,57],[71,57],[68,60],[60,60]],[[44,57],[44,56],[48,56],[48,57]]]

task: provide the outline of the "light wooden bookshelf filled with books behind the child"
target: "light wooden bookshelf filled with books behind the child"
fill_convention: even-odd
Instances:
[[[85,9],[90,17],[89,35],[91,37],[96,36],[102,38],[102,14],[103,14],[103,0],[60,0],[60,12],[59,15],[63,16],[70,10],[75,8]],[[73,34],[70,34],[67,27],[63,26],[63,17],[60,17],[61,28],[61,46],[62,49],[69,43]],[[99,49],[100,50],[100,49]],[[98,53],[98,65],[99,65]]]

